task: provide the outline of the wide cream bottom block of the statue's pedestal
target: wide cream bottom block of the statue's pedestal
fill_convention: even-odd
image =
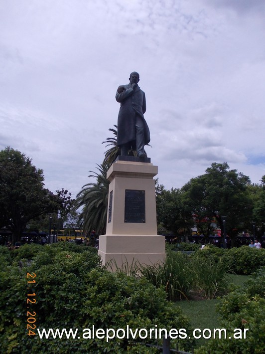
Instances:
[[[99,236],[102,264],[108,269],[134,265],[162,264],[165,260],[165,238],[159,235],[101,235]]]

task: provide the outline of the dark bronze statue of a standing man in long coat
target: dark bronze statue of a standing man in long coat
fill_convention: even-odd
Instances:
[[[127,156],[129,150],[136,150],[139,158],[145,158],[144,145],[150,141],[150,132],[143,117],[146,111],[145,94],[139,88],[139,74],[133,71],[130,83],[118,87],[116,101],[121,103],[118,116],[117,146],[121,155]]]

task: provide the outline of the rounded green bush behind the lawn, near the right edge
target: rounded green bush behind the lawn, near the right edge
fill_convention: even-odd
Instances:
[[[251,274],[265,266],[265,248],[242,246],[232,248],[224,255],[226,262],[234,263],[233,271],[236,274]]]

